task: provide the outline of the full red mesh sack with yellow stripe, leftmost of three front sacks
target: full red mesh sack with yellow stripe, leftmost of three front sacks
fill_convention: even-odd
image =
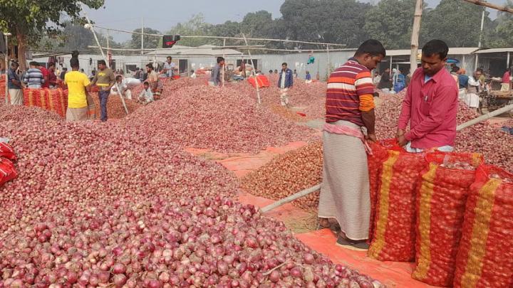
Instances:
[[[368,255],[381,261],[415,259],[415,195],[418,175],[427,166],[424,154],[408,153],[395,139],[381,166],[374,237]]]

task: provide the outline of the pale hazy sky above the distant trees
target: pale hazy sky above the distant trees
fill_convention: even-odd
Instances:
[[[439,1],[427,0],[427,4],[435,7]],[[489,2],[503,4],[504,0]],[[260,10],[269,11],[273,18],[279,18],[279,9],[283,3],[284,0],[105,0],[105,9],[86,11],[98,26],[133,31],[140,28],[142,18],[145,27],[164,33],[177,23],[185,22],[199,13],[204,15],[207,23],[212,24],[241,21],[247,13]],[[490,17],[495,18],[496,13],[491,9],[489,11]],[[113,33],[111,36],[118,42],[131,38],[128,33]]]

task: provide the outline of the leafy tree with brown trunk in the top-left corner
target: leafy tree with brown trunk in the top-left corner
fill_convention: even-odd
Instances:
[[[21,69],[26,69],[25,52],[28,45],[37,44],[43,35],[56,34],[61,19],[81,19],[82,4],[99,9],[104,0],[38,0],[0,1],[0,30],[13,34],[18,44]],[[51,23],[51,25],[48,25]]]

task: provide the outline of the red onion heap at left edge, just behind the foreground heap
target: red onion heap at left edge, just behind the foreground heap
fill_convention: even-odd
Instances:
[[[175,144],[98,122],[0,122],[18,155],[19,178],[0,188],[0,233],[20,221],[98,207],[120,199],[146,201],[199,193],[234,196],[235,176]]]

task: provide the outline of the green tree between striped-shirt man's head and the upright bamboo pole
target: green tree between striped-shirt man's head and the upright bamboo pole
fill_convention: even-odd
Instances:
[[[366,14],[368,36],[388,49],[409,48],[415,0],[382,0]]]

